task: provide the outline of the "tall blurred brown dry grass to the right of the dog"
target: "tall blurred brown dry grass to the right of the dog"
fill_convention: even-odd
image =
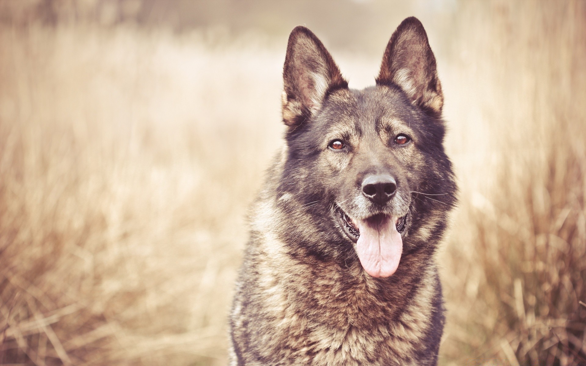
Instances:
[[[493,89],[469,107],[481,108],[489,145],[459,164],[441,261],[448,364],[586,364],[585,9],[535,5],[476,19],[479,39],[488,33],[476,54],[492,65],[475,64],[471,81]]]

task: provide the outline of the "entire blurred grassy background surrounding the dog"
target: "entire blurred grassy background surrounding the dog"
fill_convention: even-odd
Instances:
[[[440,365],[586,365],[586,2],[0,0],[0,364],[224,365],[288,33],[417,16],[460,204]]]

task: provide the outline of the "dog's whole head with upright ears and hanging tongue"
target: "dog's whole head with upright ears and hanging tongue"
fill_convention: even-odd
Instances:
[[[393,275],[401,256],[441,236],[455,201],[423,25],[407,18],[398,26],[376,86],[362,91],[348,88],[319,39],[299,26],[283,76],[282,212],[316,254],[357,254],[369,275]]]

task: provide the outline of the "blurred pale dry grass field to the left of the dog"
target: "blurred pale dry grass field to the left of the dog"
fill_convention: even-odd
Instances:
[[[281,55],[131,29],[0,34],[2,360],[222,363]]]

